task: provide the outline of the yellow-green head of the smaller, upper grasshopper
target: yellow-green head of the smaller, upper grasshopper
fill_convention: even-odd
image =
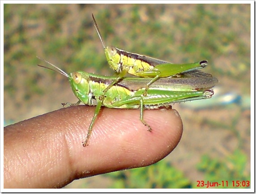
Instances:
[[[120,61],[121,61],[121,55],[120,51],[118,48],[115,46],[106,46],[105,47],[105,55],[107,58],[107,63],[110,65],[110,67],[115,71],[115,72],[121,72],[120,71]]]

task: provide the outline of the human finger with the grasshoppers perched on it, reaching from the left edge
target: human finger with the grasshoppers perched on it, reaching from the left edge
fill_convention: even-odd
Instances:
[[[154,164],[179,143],[176,110],[102,108],[85,148],[95,107],[71,106],[4,127],[4,188],[61,188],[75,179]]]

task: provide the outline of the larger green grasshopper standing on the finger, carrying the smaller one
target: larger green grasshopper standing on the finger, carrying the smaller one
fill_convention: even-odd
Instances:
[[[211,98],[213,96],[211,88],[218,82],[210,74],[201,72],[201,76],[199,76],[198,73],[193,74],[192,72],[183,78],[161,78],[155,81],[149,86],[145,96],[145,84],[150,81],[150,78],[123,78],[106,91],[107,87],[116,79],[115,76],[99,76],[83,71],[67,74],[55,65],[49,64],[58,71],[49,67],[38,66],[68,77],[73,93],[78,98],[75,105],[79,103],[96,105],[86,139],[82,142],[84,147],[88,145],[101,106],[116,109],[140,109],[140,120],[148,127],[148,131],[151,131],[151,127],[143,119],[145,109],[158,109],[169,107],[175,102]]]

